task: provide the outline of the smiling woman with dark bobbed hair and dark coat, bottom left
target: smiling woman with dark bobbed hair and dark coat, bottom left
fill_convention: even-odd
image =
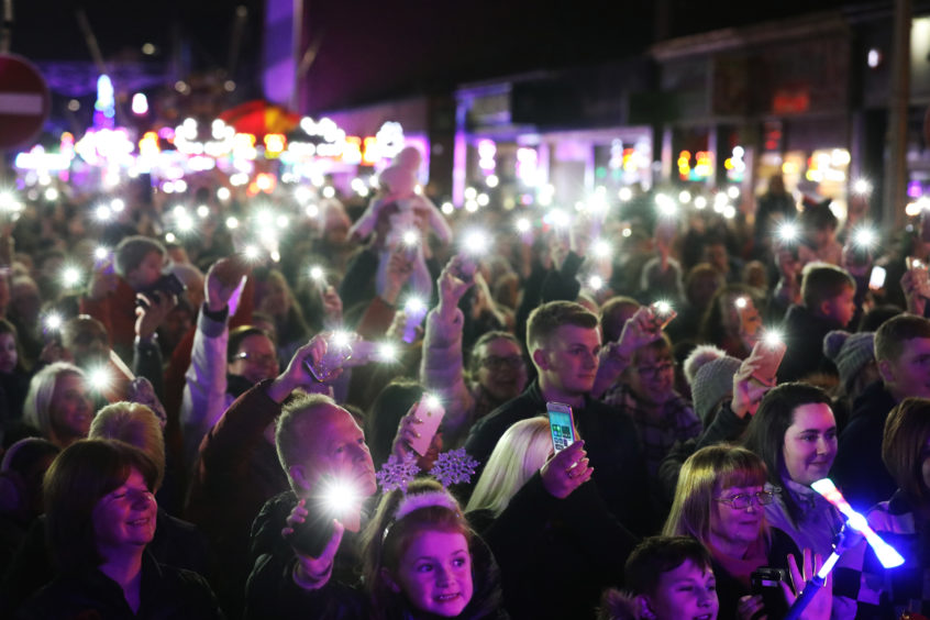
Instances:
[[[58,455],[45,476],[58,575],[18,618],[223,618],[202,577],[145,551],[155,534],[157,477],[151,458],[118,441],[82,440]]]

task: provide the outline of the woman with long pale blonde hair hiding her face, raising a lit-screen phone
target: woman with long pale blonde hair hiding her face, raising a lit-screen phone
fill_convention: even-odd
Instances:
[[[586,484],[593,472],[583,441],[553,454],[545,418],[510,427],[488,458],[466,517],[500,565],[512,619],[593,617],[622,579],[636,540]]]

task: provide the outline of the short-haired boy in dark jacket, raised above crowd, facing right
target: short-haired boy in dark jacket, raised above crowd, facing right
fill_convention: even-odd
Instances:
[[[823,357],[823,336],[845,328],[855,315],[855,280],[845,269],[811,263],[804,268],[801,301],[785,317],[788,351],[778,367],[779,384],[822,369],[835,373]]]

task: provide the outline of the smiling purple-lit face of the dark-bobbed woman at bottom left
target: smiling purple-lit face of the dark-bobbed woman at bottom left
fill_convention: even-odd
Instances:
[[[155,535],[158,505],[145,484],[145,478],[134,468],[126,480],[93,507],[93,535],[103,557],[110,551],[145,546]]]

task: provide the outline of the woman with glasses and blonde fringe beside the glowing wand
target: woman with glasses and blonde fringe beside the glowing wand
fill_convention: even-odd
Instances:
[[[685,461],[663,535],[694,536],[707,547],[717,578],[719,618],[750,620],[763,611],[751,595],[760,566],[788,569],[801,555],[791,538],[770,527],[765,509],[776,498],[766,489],[765,463],[744,447],[712,445]],[[798,588],[799,589],[799,588]]]

